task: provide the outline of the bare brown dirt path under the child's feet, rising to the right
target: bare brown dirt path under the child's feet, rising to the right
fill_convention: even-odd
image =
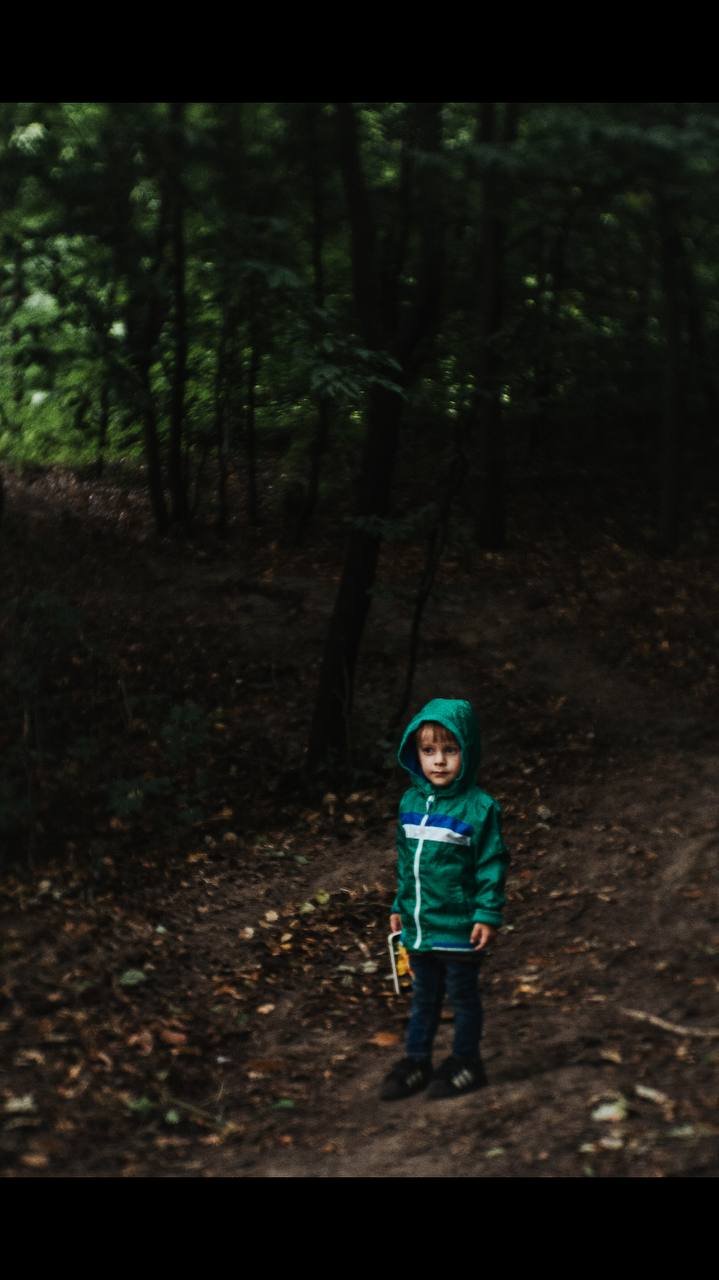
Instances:
[[[302,1082],[302,1102],[283,1114],[274,1148],[242,1156],[242,1143],[237,1151],[228,1143],[215,1171],[715,1174],[719,1043],[691,1032],[718,1025],[719,919],[715,909],[697,918],[714,881],[718,764],[707,756],[677,767],[658,756],[651,778],[622,768],[591,804],[582,797],[572,817],[574,787],[554,790],[558,817],[545,833],[548,847],[533,864],[516,867],[509,929],[485,964],[486,1091],[450,1102],[381,1103],[381,1076],[400,1048],[372,1039],[377,1032],[402,1034],[408,997],[390,998],[384,1009],[374,998],[348,1025],[320,1011],[308,1024],[306,991],[284,993],[256,1033],[252,1061],[276,1093]],[[362,900],[361,860],[361,874],[389,883],[384,850],[367,858],[365,842],[353,840],[339,861],[325,865],[322,886],[344,882]],[[228,933],[239,932],[251,914],[246,902],[241,915],[226,919]],[[343,918],[342,910],[330,914]],[[381,931],[380,919],[365,934],[380,973]],[[209,936],[198,945],[209,946]],[[353,951],[352,959],[361,956]],[[665,1030],[631,1010],[691,1030]],[[448,1051],[449,1034],[443,1025],[440,1052]],[[237,1074],[228,1065],[230,1096],[242,1094],[247,1074],[247,1062]]]

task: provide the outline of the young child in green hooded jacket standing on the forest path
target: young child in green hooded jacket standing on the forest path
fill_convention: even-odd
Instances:
[[[480,1060],[480,956],[502,924],[507,850],[500,809],[476,783],[480,726],[471,703],[435,698],[407,726],[398,755],[412,778],[399,801],[397,897],[413,975],[406,1051],[383,1084],[385,1100],[429,1084],[432,1098],[486,1084]],[[454,1010],[454,1051],[432,1074],[444,993]]]

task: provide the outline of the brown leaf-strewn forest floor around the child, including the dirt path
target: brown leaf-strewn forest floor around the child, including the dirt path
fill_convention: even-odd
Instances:
[[[4,598],[59,593],[82,643],[47,659],[32,835],[3,873],[5,1176],[719,1172],[716,558],[656,558],[581,494],[551,526],[522,500],[507,552],[450,544],[412,698],[472,699],[503,805],[490,1083],[385,1103],[408,1009],[386,722],[422,549],[383,557],[352,788],[308,796],[338,545],[183,548],[132,486],[8,485]],[[60,704],[81,746],[60,750]]]

